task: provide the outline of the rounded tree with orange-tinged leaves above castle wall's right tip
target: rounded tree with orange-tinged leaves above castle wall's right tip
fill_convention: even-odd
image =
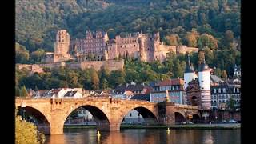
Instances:
[[[218,40],[215,39],[214,36],[210,34],[202,34],[198,38],[198,47],[200,49],[203,49],[206,46],[212,50],[216,50],[218,48]]]

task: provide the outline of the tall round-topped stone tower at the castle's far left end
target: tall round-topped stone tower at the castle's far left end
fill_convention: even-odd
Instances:
[[[58,30],[54,43],[54,54],[68,54],[70,47],[70,34],[66,30]]]

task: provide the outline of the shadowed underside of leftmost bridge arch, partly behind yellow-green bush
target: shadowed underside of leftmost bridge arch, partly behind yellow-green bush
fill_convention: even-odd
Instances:
[[[37,126],[38,131],[42,131],[43,134],[50,134],[50,118],[47,118],[42,110],[38,110],[33,106],[18,106],[17,108],[18,115],[25,116],[26,120],[33,122]],[[32,119],[30,119],[31,117]]]

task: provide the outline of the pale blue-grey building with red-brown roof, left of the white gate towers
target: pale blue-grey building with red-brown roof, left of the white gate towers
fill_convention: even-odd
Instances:
[[[184,80],[182,78],[167,79],[153,86],[150,102],[165,102],[168,95],[170,102],[184,104]]]

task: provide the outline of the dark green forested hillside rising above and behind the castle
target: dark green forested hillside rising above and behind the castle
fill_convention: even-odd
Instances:
[[[186,33],[196,30],[218,40],[227,49],[226,30],[240,35],[240,0],[17,0],[16,42],[27,50],[54,50],[59,29],[71,38],[86,30],[107,30],[110,38],[122,32],[159,31],[161,38],[178,34],[188,45]]]

